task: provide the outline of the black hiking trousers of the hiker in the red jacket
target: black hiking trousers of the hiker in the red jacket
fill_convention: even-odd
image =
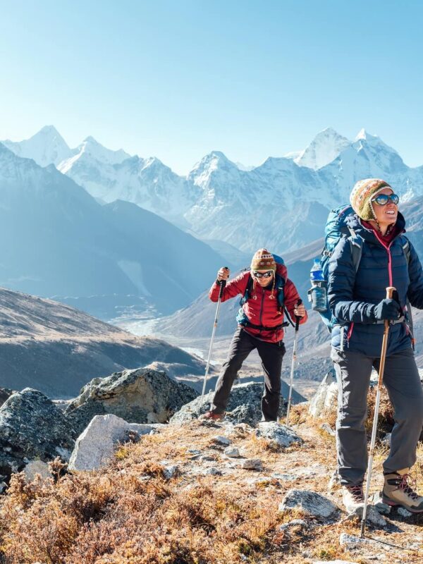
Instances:
[[[262,397],[262,414],[264,421],[277,421],[279,400],[281,397],[281,369],[282,359],[285,354],[283,341],[269,343],[260,341],[240,327],[235,331],[228,357],[222,364],[219,379],[216,382],[212,412],[224,413],[228,403],[233,381],[238,374],[244,360],[257,348],[257,353],[262,360],[264,370],[264,394]]]

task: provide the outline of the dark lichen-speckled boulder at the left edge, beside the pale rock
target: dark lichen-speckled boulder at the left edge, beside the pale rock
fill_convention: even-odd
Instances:
[[[59,455],[67,462],[77,436],[43,393],[32,388],[13,393],[0,407],[0,482],[31,460],[48,462]]]

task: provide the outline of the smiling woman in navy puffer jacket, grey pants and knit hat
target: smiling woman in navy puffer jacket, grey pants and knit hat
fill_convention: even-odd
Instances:
[[[379,369],[384,320],[388,319],[384,384],[395,424],[384,461],[383,500],[422,513],[423,496],[415,491],[410,468],[422,431],[423,390],[406,324],[407,299],[423,309],[422,265],[403,235],[405,220],[388,183],[377,178],[360,180],[350,202],[355,214],[346,221],[363,240],[362,256],[356,271],[350,240],[341,238],[329,262],[328,287],[329,306],[336,317],[331,358],[338,380],[336,442],[343,501],[349,512],[364,505],[367,391],[372,367]],[[388,286],[398,290],[396,299],[386,299]]]

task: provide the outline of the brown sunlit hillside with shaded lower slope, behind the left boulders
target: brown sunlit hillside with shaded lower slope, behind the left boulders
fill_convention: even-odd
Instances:
[[[51,300],[0,288],[0,387],[77,396],[94,376],[152,362],[174,376],[204,374],[204,363],[155,338],[135,337]]]

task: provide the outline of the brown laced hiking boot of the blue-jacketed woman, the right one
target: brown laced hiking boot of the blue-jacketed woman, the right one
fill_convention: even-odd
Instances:
[[[423,496],[419,496],[413,488],[417,487],[415,479],[408,474],[410,468],[398,470],[392,474],[384,474],[385,484],[382,501],[386,505],[400,505],[411,513],[423,513]]]

